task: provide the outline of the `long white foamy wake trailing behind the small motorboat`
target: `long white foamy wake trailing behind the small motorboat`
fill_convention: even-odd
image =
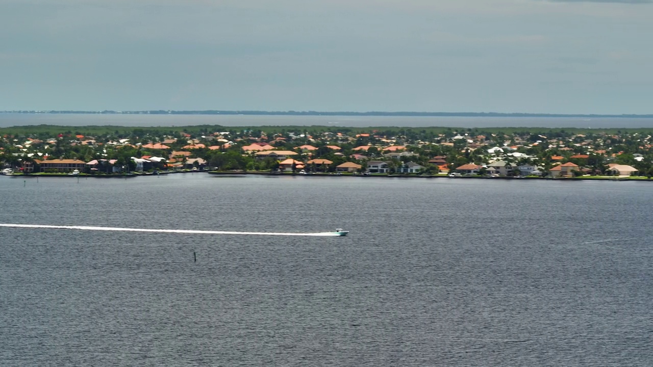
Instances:
[[[185,233],[185,234],[257,234],[262,236],[338,236],[338,234],[334,232],[319,232],[319,233],[232,232],[232,231],[199,231],[195,229],[144,229],[144,228],[119,228],[119,227],[91,227],[86,225],[40,225],[40,224],[0,223],[0,227],[78,229],[82,231],[160,232],[160,233]]]

